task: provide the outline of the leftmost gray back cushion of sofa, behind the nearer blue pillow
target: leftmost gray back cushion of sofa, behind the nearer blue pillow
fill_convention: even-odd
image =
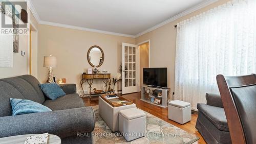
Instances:
[[[0,80],[0,117],[12,115],[10,98],[24,99],[15,87]]]

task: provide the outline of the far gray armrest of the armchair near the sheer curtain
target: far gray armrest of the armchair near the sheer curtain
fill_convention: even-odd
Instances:
[[[207,105],[223,108],[220,94],[206,93],[205,98]]]

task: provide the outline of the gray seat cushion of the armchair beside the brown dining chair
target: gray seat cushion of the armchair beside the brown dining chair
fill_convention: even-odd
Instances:
[[[197,104],[197,109],[219,130],[229,131],[223,108],[209,106],[206,104]]]

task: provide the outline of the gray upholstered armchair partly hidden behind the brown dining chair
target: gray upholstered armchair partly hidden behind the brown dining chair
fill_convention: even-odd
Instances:
[[[206,93],[206,101],[197,105],[197,130],[207,143],[231,143],[221,96]]]

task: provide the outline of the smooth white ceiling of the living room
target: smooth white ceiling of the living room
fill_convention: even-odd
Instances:
[[[211,0],[31,0],[42,24],[136,36]]]

